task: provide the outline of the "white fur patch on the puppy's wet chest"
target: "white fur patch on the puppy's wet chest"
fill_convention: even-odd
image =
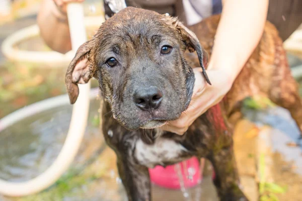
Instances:
[[[187,151],[173,140],[158,138],[153,145],[147,145],[140,139],[136,142],[134,157],[144,166],[153,168],[156,164],[177,162],[182,152]]]

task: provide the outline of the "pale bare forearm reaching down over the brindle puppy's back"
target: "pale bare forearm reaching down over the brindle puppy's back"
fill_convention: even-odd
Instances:
[[[225,0],[208,69],[233,83],[262,36],[268,0]]]

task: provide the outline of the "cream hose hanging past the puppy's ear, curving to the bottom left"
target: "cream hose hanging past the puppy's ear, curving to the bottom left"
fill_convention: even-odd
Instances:
[[[80,3],[67,6],[72,50],[75,52],[86,42],[84,10]],[[39,176],[25,182],[8,182],[0,179],[0,194],[24,196],[37,193],[52,185],[68,169],[82,142],[89,112],[90,82],[79,85],[80,94],[73,106],[65,143],[53,164]]]

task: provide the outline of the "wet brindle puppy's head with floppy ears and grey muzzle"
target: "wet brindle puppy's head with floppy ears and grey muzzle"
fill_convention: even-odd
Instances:
[[[126,8],[107,20],[71,61],[65,83],[73,104],[79,83],[99,81],[113,117],[129,130],[176,120],[191,100],[194,73],[184,52],[196,51],[207,79],[202,48],[177,18]]]

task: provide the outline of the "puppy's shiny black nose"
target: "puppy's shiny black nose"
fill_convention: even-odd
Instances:
[[[140,88],[133,94],[135,105],[143,111],[158,109],[162,103],[163,93],[156,86]]]

